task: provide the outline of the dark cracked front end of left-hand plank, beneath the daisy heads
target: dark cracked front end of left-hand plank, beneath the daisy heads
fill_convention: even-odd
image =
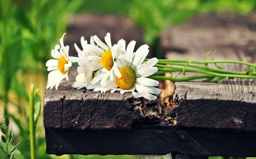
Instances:
[[[71,87],[75,73],[58,90],[47,89],[44,98],[45,128],[131,129],[142,120],[141,98],[131,93],[100,93]]]

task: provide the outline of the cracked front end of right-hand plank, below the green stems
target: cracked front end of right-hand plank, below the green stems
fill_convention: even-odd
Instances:
[[[256,131],[255,82],[179,82],[174,101],[182,127]],[[254,94],[255,93],[255,94]]]

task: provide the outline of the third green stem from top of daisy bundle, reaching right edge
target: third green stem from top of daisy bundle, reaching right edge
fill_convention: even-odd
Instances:
[[[183,68],[177,68],[174,66],[166,66],[166,65],[160,65],[160,64],[156,64],[156,67],[160,67],[160,68],[171,68],[171,69],[177,69],[180,72],[183,71]],[[159,69],[160,69],[159,68]],[[160,69],[161,70],[161,69]],[[231,78],[252,78],[252,79],[256,79],[256,76],[252,76],[252,75],[233,75],[233,74],[221,74],[221,73],[215,73],[215,72],[209,72],[209,71],[205,71],[205,70],[200,70],[200,69],[188,69],[185,68],[184,69],[185,72],[198,72],[198,73],[203,73],[206,75],[214,75],[214,76],[220,76],[220,77],[231,77]]]

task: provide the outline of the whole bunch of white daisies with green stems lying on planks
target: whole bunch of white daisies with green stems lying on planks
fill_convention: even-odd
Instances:
[[[66,33],[65,33],[66,34]],[[134,50],[135,41],[128,43],[121,39],[117,44],[112,45],[110,33],[106,34],[105,42],[102,42],[96,35],[92,36],[90,43],[81,37],[80,49],[76,43],[75,48],[78,57],[68,55],[69,46],[64,46],[63,37],[60,39],[61,45],[56,45],[51,55],[55,59],[48,60],[47,70],[51,71],[48,75],[47,88],[54,86],[58,89],[61,80],[68,80],[69,67],[77,67],[78,75],[76,82],[72,87],[77,89],[93,89],[101,93],[110,91],[120,91],[120,93],[131,92],[134,98],[144,97],[149,100],[155,100],[156,94],[161,92],[156,88],[159,84],[157,80],[188,81],[195,79],[204,79],[204,81],[222,82],[229,78],[251,78],[256,79],[255,64],[221,60],[206,61],[208,52],[204,61],[185,61],[185,60],[165,60],[165,59],[146,59],[149,52],[148,45],[140,46]],[[214,55],[214,52],[213,52]],[[216,68],[210,68],[209,63],[214,63]],[[217,63],[234,63],[248,66],[245,72],[223,70]],[[202,66],[194,65],[202,64]],[[195,75],[184,78],[175,78],[169,76],[159,76],[167,72],[195,72],[202,75]],[[151,76],[154,75],[154,76]]]

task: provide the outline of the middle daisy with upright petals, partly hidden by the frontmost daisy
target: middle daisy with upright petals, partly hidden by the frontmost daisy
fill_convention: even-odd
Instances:
[[[93,45],[87,46],[88,52],[92,54],[92,56],[88,56],[88,60],[91,62],[86,67],[86,71],[99,70],[101,73],[95,75],[91,81],[91,84],[94,85],[101,80],[101,85],[104,85],[108,77],[110,77],[110,80],[114,80],[113,72],[116,74],[116,76],[121,77],[115,62],[115,57],[117,57],[116,50],[119,47],[118,44],[121,43],[118,43],[112,47],[110,33],[107,33],[105,36],[107,45],[103,43],[96,35],[93,36],[93,39],[99,47]]]

